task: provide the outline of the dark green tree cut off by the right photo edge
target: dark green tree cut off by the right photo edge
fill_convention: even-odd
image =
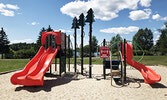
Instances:
[[[167,54],[167,23],[165,23],[165,29],[159,29],[161,35],[159,40],[157,41],[158,51],[161,52],[162,55]]]

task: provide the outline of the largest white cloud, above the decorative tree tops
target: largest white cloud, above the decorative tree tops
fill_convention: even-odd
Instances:
[[[79,16],[92,8],[95,18],[100,20],[112,20],[118,17],[118,12],[124,9],[135,10],[140,0],[88,0],[72,1],[60,8],[63,14],[71,17]]]

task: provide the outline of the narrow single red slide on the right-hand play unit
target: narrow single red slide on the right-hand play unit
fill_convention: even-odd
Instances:
[[[126,62],[141,72],[145,83],[154,84],[155,82],[159,82],[161,80],[161,76],[155,73],[151,68],[132,60],[133,46],[128,43],[126,43],[126,57]]]

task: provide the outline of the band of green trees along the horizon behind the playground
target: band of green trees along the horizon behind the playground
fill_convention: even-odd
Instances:
[[[1,58],[6,59],[24,59],[32,58],[38,52],[41,46],[41,35],[42,32],[53,31],[50,27],[45,29],[42,28],[37,37],[36,43],[15,43],[9,44],[10,41],[7,38],[7,35],[3,28],[0,30],[0,54]],[[139,29],[138,32],[133,36],[133,42],[137,43],[138,47],[134,46],[134,54],[142,55],[143,52],[145,55],[167,55],[167,23],[165,23],[165,28],[157,29],[159,31],[159,39],[157,41],[153,40],[153,33],[150,29]],[[110,43],[113,45],[116,42],[121,41],[121,36],[117,34],[112,37]],[[46,38],[47,40],[47,38]],[[155,43],[154,43],[155,42]],[[81,47],[78,45],[77,51],[81,54]],[[142,48],[142,50],[141,50]],[[71,50],[72,52],[73,50]],[[93,53],[99,52],[98,40],[95,36],[92,37],[92,56]],[[112,46],[113,55],[118,54],[117,45]],[[85,57],[89,56],[89,45],[84,46],[83,54]],[[72,56],[72,54],[71,54]]]

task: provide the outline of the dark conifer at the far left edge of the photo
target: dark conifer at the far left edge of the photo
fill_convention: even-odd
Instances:
[[[3,59],[3,54],[9,52],[9,40],[8,37],[4,31],[3,28],[0,30],[0,54],[2,54],[2,59]]]

